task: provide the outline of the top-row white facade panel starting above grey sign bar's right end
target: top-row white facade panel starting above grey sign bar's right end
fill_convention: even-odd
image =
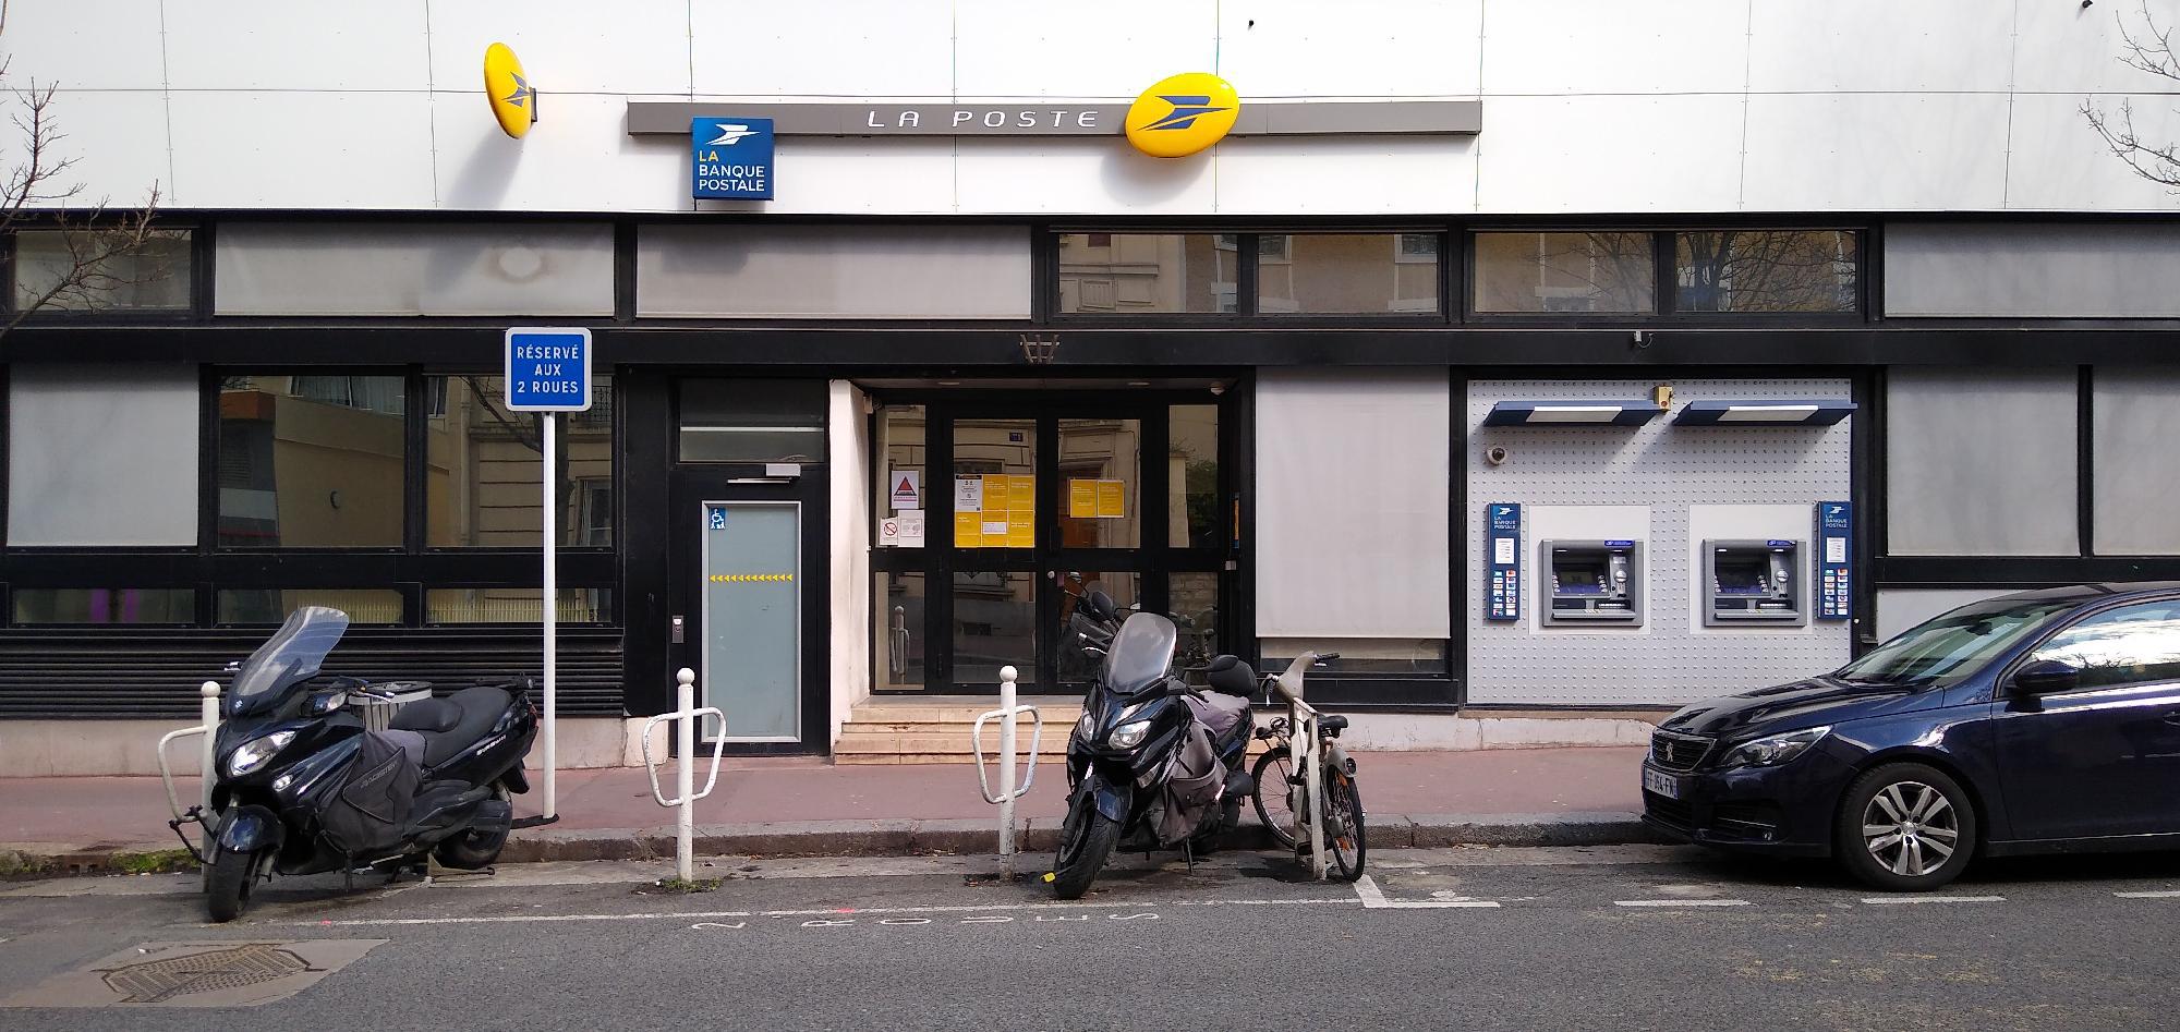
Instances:
[[[1487,96],[1740,94],[1746,0],[1495,2],[1485,7]],[[1485,128],[1498,120],[1485,105]]]

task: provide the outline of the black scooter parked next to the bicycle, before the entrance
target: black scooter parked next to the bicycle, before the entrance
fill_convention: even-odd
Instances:
[[[1118,621],[1103,592],[1077,616],[1086,616],[1070,621],[1077,640],[1103,653],[1103,668],[1068,736],[1068,816],[1053,862],[1062,899],[1081,899],[1114,849],[1212,845],[1240,825],[1240,801],[1256,795],[1243,769],[1256,690],[1249,666],[1212,660],[1212,692],[1199,692],[1173,671],[1173,621],[1138,612],[1101,642]]]

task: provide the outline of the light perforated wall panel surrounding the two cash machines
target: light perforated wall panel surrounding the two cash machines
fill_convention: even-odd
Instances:
[[[1467,551],[1469,701],[1530,705],[1679,705],[1829,671],[1849,658],[1849,625],[1812,621],[1777,631],[1703,634],[1692,621],[1690,505],[1812,505],[1849,496],[1853,418],[1836,427],[1485,427],[1493,401],[1637,401],[1657,381],[1472,381]],[[1674,381],[1674,409],[1690,401],[1846,398],[1844,379]],[[1504,444],[1504,466],[1478,459]],[[1644,634],[1533,631],[1528,621],[1487,623],[1485,505],[1648,505]],[[1524,514],[1526,516],[1526,514]],[[1814,531],[1803,531],[1807,538]],[[1524,531],[1535,553],[1535,538]],[[1524,568],[1524,610],[1535,610],[1535,564]]]

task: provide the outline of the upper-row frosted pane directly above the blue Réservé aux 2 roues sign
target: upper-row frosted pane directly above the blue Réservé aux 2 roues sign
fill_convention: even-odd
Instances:
[[[613,226],[227,222],[220,316],[613,316]]]

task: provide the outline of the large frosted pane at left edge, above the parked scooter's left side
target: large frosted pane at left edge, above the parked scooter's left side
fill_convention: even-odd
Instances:
[[[196,544],[196,366],[13,366],[9,544]]]

